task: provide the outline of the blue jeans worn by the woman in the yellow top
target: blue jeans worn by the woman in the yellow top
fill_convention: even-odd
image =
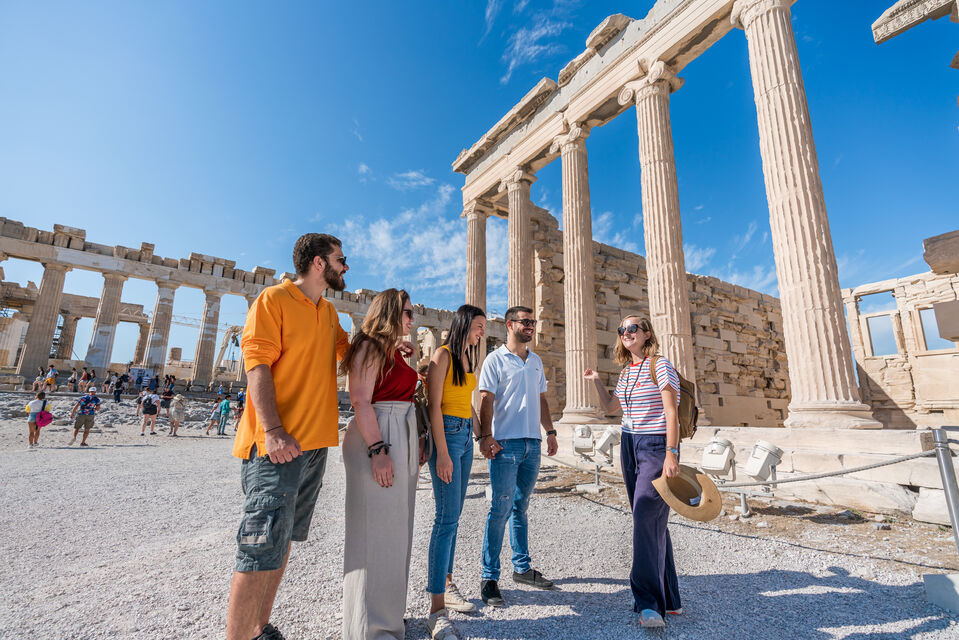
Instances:
[[[446,576],[453,573],[456,530],[466,500],[470,469],[473,467],[473,421],[444,415],[443,433],[446,436],[446,448],[453,460],[453,478],[446,484],[436,475],[436,449],[433,449],[430,476],[433,478],[436,517],[430,535],[426,590],[434,594],[446,592]]]

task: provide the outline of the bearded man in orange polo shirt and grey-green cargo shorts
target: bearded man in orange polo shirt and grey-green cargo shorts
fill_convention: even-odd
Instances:
[[[247,408],[233,455],[246,500],[230,584],[228,640],[282,640],[270,624],[290,543],[306,540],[327,447],[339,444],[336,361],[349,338],[322,297],[342,291],[349,269],[340,241],[308,233],[293,247],[296,281],[260,293],[241,346]]]

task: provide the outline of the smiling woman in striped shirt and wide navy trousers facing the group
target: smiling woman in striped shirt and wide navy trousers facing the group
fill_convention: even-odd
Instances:
[[[633,511],[633,610],[644,627],[662,627],[666,614],[682,613],[673,546],[666,530],[669,506],[653,488],[662,473],[679,475],[679,376],[656,356],[659,342],[647,318],[627,316],[617,330],[616,362],[623,365],[610,395],[599,374],[587,369],[606,413],[623,410],[620,460]],[[655,360],[656,382],[650,372]]]

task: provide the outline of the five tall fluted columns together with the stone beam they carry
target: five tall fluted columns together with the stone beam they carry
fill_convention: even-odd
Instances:
[[[593,367],[600,357],[585,139],[591,130],[630,106],[636,109],[639,136],[650,319],[661,353],[680,373],[695,380],[697,372],[707,366],[694,359],[697,342],[683,256],[669,96],[682,85],[676,74],[683,67],[734,26],[741,26],[756,98],[781,293],[792,393],[786,425],[881,426],[860,401],[853,375],[835,253],[792,30],[793,1],[659,0],[643,20],[610,16],[590,34],[586,50],[560,72],[558,81],[544,78],[537,83],[454,161],[454,171],[466,176],[467,300],[485,306],[485,299],[483,304],[479,300],[486,291],[486,219],[477,212],[508,218],[508,294],[514,304],[515,296],[528,295],[520,267],[532,253],[525,240],[531,206],[529,185],[536,171],[561,158],[566,354],[563,422],[600,418],[596,398],[582,378],[582,370]],[[520,246],[514,246],[518,243]],[[614,330],[603,328],[606,336]]]

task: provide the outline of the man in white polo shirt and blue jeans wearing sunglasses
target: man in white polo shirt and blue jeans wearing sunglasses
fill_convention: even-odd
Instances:
[[[500,551],[506,522],[513,546],[513,582],[539,589],[553,583],[532,568],[526,509],[539,475],[540,445],[546,431],[546,455],[556,454],[556,430],[546,402],[543,361],[526,346],[536,320],[528,307],[506,310],[506,344],[486,356],[480,373],[480,428],[476,439],[489,459],[493,503],[483,538],[480,594],[493,607],[506,605],[499,591]]]

